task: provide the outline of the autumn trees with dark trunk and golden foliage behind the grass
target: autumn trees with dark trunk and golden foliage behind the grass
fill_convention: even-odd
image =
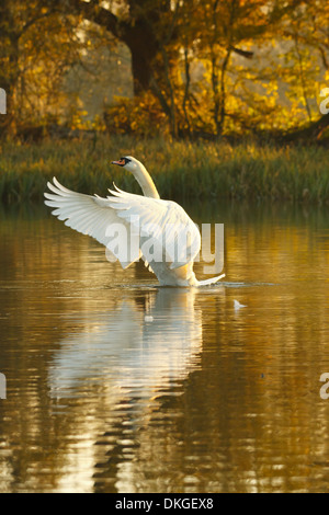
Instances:
[[[328,22],[319,0],[2,0],[1,135],[298,131],[320,118]]]

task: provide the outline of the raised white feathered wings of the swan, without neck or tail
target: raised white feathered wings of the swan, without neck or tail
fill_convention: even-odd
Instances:
[[[55,207],[53,215],[64,220],[66,226],[91,236],[107,248],[113,238],[111,229],[124,225],[128,237],[125,247],[129,249],[125,258],[114,252],[124,268],[139,259],[143,242],[146,245],[150,239],[158,255],[161,253],[171,268],[193,261],[200,251],[197,227],[174,202],[134,195],[118,188],[110,191],[112,196],[106,198],[84,195],[64,187],[55,178],[54,184],[48,183],[48,188],[52,193],[45,193],[45,204]],[[141,242],[137,249],[132,243],[132,234],[138,234],[138,241]],[[147,255],[145,259],[151,261]]]

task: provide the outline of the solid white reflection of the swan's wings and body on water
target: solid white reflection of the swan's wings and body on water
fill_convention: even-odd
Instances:
[[[195,295],[188,288],[129,290],[111,312],[75,316],[83,330],[64,339],[54,354],[50,396],[81,396],[87,384],[101,384],[113,404],[126,396],[150,399],[184,379],[202,350]]]

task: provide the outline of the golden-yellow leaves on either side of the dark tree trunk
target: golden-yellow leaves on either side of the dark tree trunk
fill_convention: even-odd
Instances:
[[[105,5],[105,3],[100,4]],[[137,25],[139,15],[137,8],[132,12],[129,2],[126,0],[114,3],[116,4],[115,14],[120,20],[129,23],[132,27],[135,22]],[[321,48],[329,48],[329,35],[328,31],[326,32],[329,8],[326,2],[316,1],[317,5],[315,2],[308,2],[305,8],[307,15],[303,15],[302,11],[298,16],[286,18],[281,24],[275,23],[266,27],[265,22],[271,18],[273,5],[275,4],[276,11],[280,12],[287,3],[268,0],[181,2],[177,21],[178,36],[172,38],[174,41],[171,41],[168,47],[167,44],[164,45],[170,68],[167,77],[170,78],[172,92],[163,73],[161,55],[151,65],[158,81],[158,91],[161,92],[169,106],[167,112],[174,103],[173,111],[175,111],[178,125],[182,131],[191,128],[191,133],[206,133],[207,135],[214,133],[216,125],[214,115],[217,107],[217,118],[219,116],[218,105],[220,107],[223,91],[225,92],[225,130],[227,133],[243,131],[245,134],[248,130],[246,127],[287,128],[305,119],[305,105],[308,99],[318,98],[317,84],[322,70],[320,67],[324,65],[322,60],[317,58],[316,45],[321,44]],[[10,26],[4,16],[0,20],[0,28],[11,31],[13,34],[29,20],[47,13],[47,8],[39,9],[39,2],[36,0],[25,4],[16,2],[16,4],[14,26]],[[110,4],[111,2],[109,9],[111,9]],[[149,0],[149,9],[151,4],[152,1]],[[162,34],[166,34],[166,28],[172,22],[169,20],[170,15],[167,18],[163,14],[158,22],[151,22],[158,41],[161,39]],[[104,54],[101,59],[102,49],[106,47],[110,55],[113,49],[111,46],[113,43],[110,43],[109,33],[105,33],[105,30],[102,31],[94,24],[86,22],[82,15],[80,19],[66,18],[66,23],[63,21],[63,15],[55,14],[44,16],[37,23],[32,24],[20,38],[16,65],[12,65],[11,53],[2,54],[0,66],[4,70],[3,77],[16,73],[20,78],[14,91],[15,112],[25,119],[35,117],[38,121],[44,121],[52,114],[54,119],[68,119],[75,128],[103,127],[101,115],[97,122],[93,122],[92,115],[88,116],[83,108],[77,111],[78,102],[80,100],[81,105],[88,106],[87,111],[93,112],[94,105],[91,102],[88,103],[87,95],[100,99],[103,96],[103,92],[99,93],[101,90],[98,89],[99,84],[95,82],[100,82],[100,69],[103,72],[103,68],[106,67],[106,72],[114,71],[107,75],[106,82],[106,88],[109,87],[106,95],[111,102],[113,91],[123,91],[123,94],[129,95],[131,56],[122,59],[124,54],[115,55],[109,65],[109,55]],[[296,45],[294,46],[295,35],[298,39],[298,53],[296,53]],[[1,48],[10,48],[10,38],[2,38],[0,45],[2,45]],[[254,52],[254,58],[247,60],[241,55],[231,54],[225,81],[220,88],[222,66],[229,45]],[[189,91],[185,91],[184,48],[188,49],[186,60],[190,66]],[[327,54],[326,50],[326,56]],[[87,81],[82,84],[80,77],[77,79],[79,71],[75,76],[76,62],[79,59],[87,65],[86,68],[91,69],[91,75],[97,78],[88,80],[88,85],[86,85]],[[327,59],[329,61],[329,55]],[[69,73],[67,73],[68,70]],[[63,87],[64,78],[66,78],[65,88]],[[324,85],[329,85],[329,70],[321,79]],[[86,96],[83,96],[84,93]],[[217,105],[215,105],[216,102]],[[152,135],[152,131],[162,131],[163,128],[167,130],[163,102],[161,107],[149,93],[135,100],[116,98],[113,104],[106,110],[106,126],[110,131]],[[70,107],[73,111],[71,115],[67,114]],[[98,112],[101,108],[100,105],[95,106]],[[315,110],[318,108],[316,102],[309,108],[314,115]]]

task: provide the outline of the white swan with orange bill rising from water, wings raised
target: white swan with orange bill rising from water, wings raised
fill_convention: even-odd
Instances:
[[[223,274],[206,281],[196,279],[193,262],[201,249],[201,237],[195,224],[179,204],[160,199],[154,181],[137,159],[128,156],[112,163],[132,172],[145,196],[125,193],[116,186],[116,191],[109,190],[111,196],[106,198],[84,195],[67,190],[54,178],[54,184],[47,184],[52,193],[45,193],[45,204],[56,208],[53,215],[106,247],[111,240],[111,227],[121,225],[129,233],[138,232],[137,252],[133,250],[131,236],[131,240],[125,240],[125,247],[128,247],[126,258],[122,254],[115,256],[124,268],[143,258],[161,286],[205,286],[225,277]],[[178,249],[180,236],[185,238],[185,244]],[[160,254],[162,259],[146,256],[146,248],[150,250],[150,247],[154,254],[158,258]]]

